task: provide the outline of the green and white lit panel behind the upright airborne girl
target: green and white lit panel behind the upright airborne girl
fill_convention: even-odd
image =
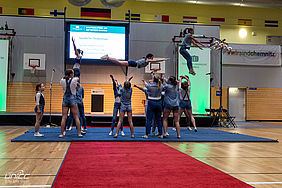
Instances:
[[[180,49],[180,48],[179,48]],[[178,76],[188,75],[191,80],[191,94],[193,114],[206,114],[205,109],[210,108],[210,49],[191,48],[195,76],[189,74],[186,60],[178,49]]]

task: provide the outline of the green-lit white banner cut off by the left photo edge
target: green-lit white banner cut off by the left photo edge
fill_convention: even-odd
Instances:
[[[0,111],[6,111],[9,40],[0,40]]]

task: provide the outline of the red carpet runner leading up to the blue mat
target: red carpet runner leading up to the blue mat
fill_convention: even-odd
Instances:
[[[72,143],[53,187],[251,187],[162,143]]]

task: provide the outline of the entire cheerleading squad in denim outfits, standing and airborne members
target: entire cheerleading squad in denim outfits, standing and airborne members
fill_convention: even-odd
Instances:
[[[184,40],[181,43],[180,54],[186,59],[189,73],[195,75],[196,73],[193,70],[192,59],[190,54],[186,49],[190,49],[191,43],[198,46],[200,49],[204,45],[197,41],[192,34],[194,30],[191,28],[186,28],[184,30]],[[62,121],[61,121],[61,134],[59,138],[63,138],[66,135],[66,130],[71,130],[71,125],[75,121],[78,137],[83,137],[86,134],[86,118],[84,114],[84,89],[80,85],[80,64],[83,56],[83,51],[76,48],[75,41],[72,39],[74,52],[76,55],[75,63],[73,69],[67,69],[65,71],[65,76],[61,79],[60,85],[63,88],[63,102],[62,102]],[[128,60],[128,61],[119,61],[115,58],[111,58],[108,55],[101,57],[102,60],[107,60],[119,64],[121,66],[137,67],[142,68],[146,67],[151,62],[161,62],[168,60],[167,58],[163,59],[154,59],[153,54],[147,54],[145,58],[140,60]],[[111,124],[110,136],[113,135],[114,138],[118,137],[119,130],[121,130],[121,135],[124,136],[123,131],[123,118],[125,113],[127,113],[128,123],[130,125],[131,138],[134,138],[134,127],[132,122],[132,107],[131,107],[131,96],[132,96],[132,87],[131,79],[128,79],[124,82],[122,87],[117,80],[110,75],[113,82],[113,90],[115,95],[115,103],[113,110],[113,120]],[[185,81],[183,81],[185,80]],[[192,115],[192,106],[190,100],[190,90],[191,82],[187,75],[180,76],[180,80],[177,80],[176,77],[170,76],[164,78],[164,76],[153,75],[152,80],[148,83],[145,82],[145,87],[139,87],[134,85],[134,87],[142,90],[146,95],[146,105],[145,105],[145,114],[146,114],[146,131],[145,135],[142,136],[144,139],[147,139],[152,131],[152,134],[160,138],[165,138],[169,136],[168,129],[168,117],[170,113],[173,113],[173,122],[175,125],[175,130],[177,132],[177,138],[180,136],[180,124],[179,120],[183,112],[186,115],[187,123],[194,127],[194,131],[197,132],[195,119]],[[44,113],[45,99],[42,92],[44,91],[44,84],[40,83],[36,85],[36,123],[35,123],[35,133],[34,136],[44,136],[39,133],[39,126]],[[70,116],[68,118],[68,111],[70,110]],[[117,121],[117,113],[119,111],[119,120],[117,123],[117,129],[114,133],[114,127]],[[67,121],[68,120],[68,121]],[[153,122],[153,128],[152,127]],[[156,133],[156,127],[158,128],[158,133]],[[192,130],[188,126],[189,130]]]

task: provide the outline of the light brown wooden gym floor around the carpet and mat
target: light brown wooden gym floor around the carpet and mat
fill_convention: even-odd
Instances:
[[[0,187],[17,185],[51,187],[70,143],[10,142],[12,138],[30,128],[32,127],[0,127]],[[241,124],[236,129],[220,130],[282,140],[282,123]],[[282,143],[165,144],[254,187],[282,187]],[[21,178],[26,175],[27,179],[7,178],[11,174],[19,173],[22,174]]]

